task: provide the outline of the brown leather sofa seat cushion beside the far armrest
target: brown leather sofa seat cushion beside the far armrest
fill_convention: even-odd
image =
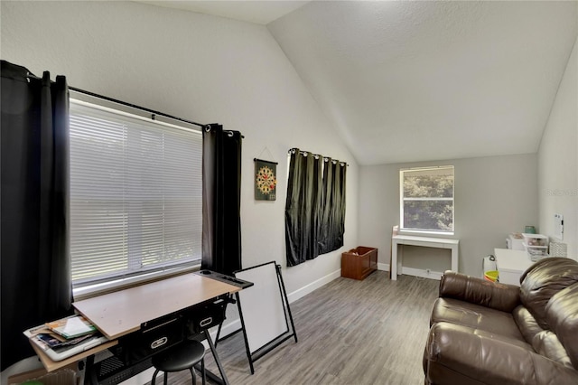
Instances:
[[[474,305],[454,298],[438,298],[433,304],[430,325],[448,322],[471,327],[489,333],[496,333],[527,345],[524,337],[514,322],[511,313],[489,307]]]

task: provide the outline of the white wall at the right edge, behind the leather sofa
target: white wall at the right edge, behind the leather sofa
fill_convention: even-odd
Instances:
[[[578,260],[578,38],[560,82],[538,152],[540,231],[554,239],[564,215],[568,257]]]

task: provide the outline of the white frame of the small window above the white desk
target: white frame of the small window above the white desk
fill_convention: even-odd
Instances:
[[[453,176],[452,183],[452,197],[439,197],[439,198],[406,198],[404,196],[404,180],[405,174],[410,172],[418,171],[428,171],[428,170],[443,170],[451,169]],[[405,202],[452,202],[452,230],[434,230],[434,229],[414,229],[406,228],[404,223],[405,214]],[[454,235],[455,234],[455,166],[453,165],[440,165],[440,166],[424,166],[424,167],[411,167],[411,168],[401,168],[399,170],[399,232],[402,234],[428,234],[428,235]]]

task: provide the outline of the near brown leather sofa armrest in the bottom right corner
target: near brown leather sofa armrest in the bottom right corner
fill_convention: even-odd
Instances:
[[[516,364],[512,364],[516,362]],[[577,384],[578,371],[467,326],[433,324],[424,352],[425,382]]]

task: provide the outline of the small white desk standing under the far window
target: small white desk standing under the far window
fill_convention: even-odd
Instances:
[[[452,250],[452,270],[458,271],[458,245],[460,239],[415,237],[412,235],[394,235],[391,237],[391,279],[397,279],[402,268],[403,251],[397,252],[399,245],[422,246],[424,248],[438,248]]]

